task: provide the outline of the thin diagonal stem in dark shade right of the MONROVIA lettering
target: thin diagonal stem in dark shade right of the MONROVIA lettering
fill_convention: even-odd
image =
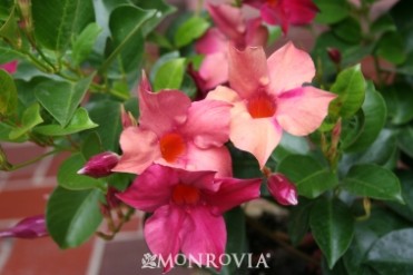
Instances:
[[[307,254],[305,254],[305,253],[296,249],[294,246],[292,246],[291,244],[288,244],[287,242],[285,242],[285,236],[282,236],[281,237],[279,234],[274,233],[274,232],[267,229],[263,224],[260,224],[256,219],[253,219],[253,218],[247,217],[246,218],[246,222],[247,222],[247,224],[250,227],[253,227],[253,229],[257,230],[259,234],[263,234],[267,238],[271,238],[272,240],[274,240],[275,243],[277,243],[279,246],[282,246],[284,249],[286,249],[287,252],[289,252],[291,254],[294,254],[295,256],[304,259],[305,262],[308,262],[311,264],[314,264],[316,266],[319,266],[319,263],[317,261],[315,261],[314,258],[312,258]]]

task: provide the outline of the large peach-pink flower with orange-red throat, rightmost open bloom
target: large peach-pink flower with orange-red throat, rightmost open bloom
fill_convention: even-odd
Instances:
[[[240,51],[229,47],[229,84],[218,87],[207,99],[234,105],[229,138],[252,153],[264,167],[278,145],[283,129],[306,136],[323,122],[335,95],[303,84],[315,75],[308,53],[287,43],[268,60],[262,47]]]

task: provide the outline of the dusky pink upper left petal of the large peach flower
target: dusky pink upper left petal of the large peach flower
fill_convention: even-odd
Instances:
[[[240,98],[249,98],[269,82],[263,47],[238,50],[229,46],[229,85]]]

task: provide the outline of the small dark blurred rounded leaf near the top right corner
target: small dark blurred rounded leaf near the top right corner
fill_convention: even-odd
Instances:
[[[403,63],[406,60],[406,52],[401,35],[397,31],[384,33],[378,41],[376,55],[394,65]]]

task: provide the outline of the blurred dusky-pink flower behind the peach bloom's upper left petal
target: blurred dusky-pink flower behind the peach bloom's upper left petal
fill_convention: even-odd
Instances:
[[[263,46],[268,30],[260,18],[246,19],[242,9],[229,4],[208,4],[208,11],[217,28],[209,29],[195,45],[198,53],[205,55],[199,68],[198,87],[205,92],[228,81],[227,43],[238,48]]]

